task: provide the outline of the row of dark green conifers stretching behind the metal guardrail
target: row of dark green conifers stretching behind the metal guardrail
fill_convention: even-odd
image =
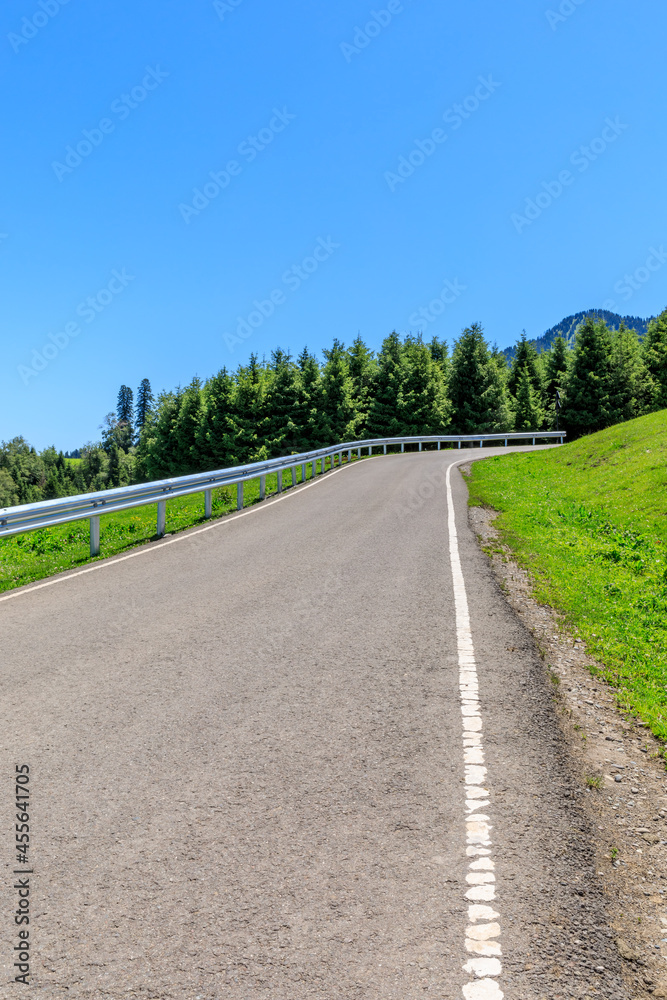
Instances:
[[[154,398],[121,386],[101,440],[80,460],[23,438],[0,446],[0,506],[30,503],[294,454],[341,441],[426,434],[601,430],[667,407],[667,310],[643,338],[589,316],[574,348],[538,352],[525,334],[508,363],[479,324],[444,341],[392,333],[376,354],[334,340],[320,362],[277,348]]]

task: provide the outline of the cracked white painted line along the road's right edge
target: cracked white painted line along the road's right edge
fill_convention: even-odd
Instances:
[[[500,916],[484,903],[496,898],[495,865],[491,859],[491,819],[485,812],[489,805],[486,787],[487,770],[484,766],[482,712],[479,701],[479,682],[475,663],[475,650],[470,629],[468,597],[461,569],[456,518],[451,484],[452,466],[447,468],[447,525],[449,529],[449,559],[454,584],[456,611],[456,636],[459,658],[459,691],[463,720],[463,760],[466,785],[466,855],[468,864],[465,896],[468,900],[469,926],[466,928],[465,948],[471,957],[463,971],[472,978],[463,986],[465,1000],[503,1000],[504,993],[497,983],[502,973],[500,956]]]

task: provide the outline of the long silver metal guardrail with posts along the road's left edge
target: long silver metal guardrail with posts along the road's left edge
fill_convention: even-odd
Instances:
[[[100,515],[113,514],[121,510],[143,507],[146,504],[157,503],[157,536],[161,537],[166,530],[167,500],[174,497],[187,496],[190,493],[204,493],[204,516],[210,518],[213,513],[212,491],[222,486],[236,484],[237,509],[243,507],[243,484],[251,479],[260,481],[260,500],[266,496],[266,476],[269,473],[278,474],[278,493],[282,492],[282,477],[284,472],[291,472],[292,486],[296,486],[296,470],[301,466],[302,481],[306,479],[306,466],[312,463],[313,479],[318,474],[317,464],[320,463],[320,474],[326,469],[326,461],[331,458],[331,469],[343,462],[343,452],[347,452],[348,461],[352,460],[352,452],[356,450],[361,458],[362,449],[368,449],[371,455],[373,448],[383,448],[400,445],[405,451],[406,444],[418,445],[419,451],[425,444],[437,444],[438,451],[443,444],[479,445],[485,442],[503,441],[505,446],[509,441],[559,440],[563,443],[567,435],[564,431],[529,431],[513,434],[457,434],[457,435],[425,435],[421,437],[374,438],[366,441],[351,441],[344,444],[319,448],[315,451],[303,452],[299,455],[286,455],[282,458],[272,458],[265,462],[253,462],[249,465],[237,465],[230,469],[220,469],[217,472],[199,472],[192,476],[179,476],[175,479],[161,479],[157,482],[143,483],[138,486],[120,486],[117,489],[103,490],[98,493],[84,493],[74,497],[60,497],[57,500],[43,500],[39,503],[22,504],[18,507],[0,508],[0,538],[19,535],[26,531],[37,531],[39,528],[52,528],[69,521],[90,520],[90,554],[100,554]]]

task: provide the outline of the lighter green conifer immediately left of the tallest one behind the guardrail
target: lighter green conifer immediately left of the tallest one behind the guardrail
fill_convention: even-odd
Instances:
[[[408,337],[402,350],[402,392],[398,410],[401,436],[444,434],[451,405],[445,378],[421,338]]]

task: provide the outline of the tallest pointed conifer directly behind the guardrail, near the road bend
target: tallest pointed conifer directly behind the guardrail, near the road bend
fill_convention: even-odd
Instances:
[[[467,327],[454,346],[449,397],[454,434],[511,430],[513,415],[504,380],[479,323]]]

